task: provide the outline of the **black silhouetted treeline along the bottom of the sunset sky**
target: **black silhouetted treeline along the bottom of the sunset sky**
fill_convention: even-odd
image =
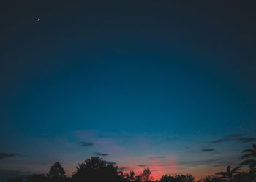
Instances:
[[[252,149],[244,150],[244,158],[252,157],[242,162],[238,167],[227,167],[224,172],[216,173],[214,176],[206,176],[198,182],[256,182],[256,145]],[[241,166],[248,165],[248,170],[242,171]],[[78,164],[76,171],[71,177],[67,177],[65,170],[59,162],[50,168],[47,175],[29,175],[26,180],[22,178],[11,178],[7,182],[153,182],[151,170],[146,168],[140,175],[133,171],[123,173],[118,166],[99,157],[91,157],[85,162]],[[155,182],[195,182],[192,175],[163,175]]]

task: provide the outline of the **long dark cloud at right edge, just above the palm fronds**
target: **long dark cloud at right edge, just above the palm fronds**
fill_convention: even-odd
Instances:
[[[227,135],[225,138],[220,138],[218,140],[210,141],[210,143],[222,143],[222,142],[228,142],[228,141],[248,143],[248,142],[256,141],[256,137],[242,137],[242,136],[243,135],[241,134]]]

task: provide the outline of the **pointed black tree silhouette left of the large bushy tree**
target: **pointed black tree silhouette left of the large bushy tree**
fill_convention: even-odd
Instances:
[[[63,181],[66,178],[66,172],[59,162],[55,162],[47,177],[52,181]]]

